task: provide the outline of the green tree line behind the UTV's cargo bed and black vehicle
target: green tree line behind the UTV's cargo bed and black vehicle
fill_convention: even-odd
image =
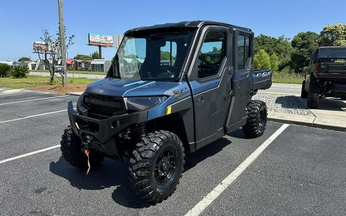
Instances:
[[[302,73],[315,49],[344,45],[346,24],[324,26],[319,34],[312,31],[300,32],[292,40],[284,36],[275,38],[260,34],[254,40],[254,64],[256,69]]]

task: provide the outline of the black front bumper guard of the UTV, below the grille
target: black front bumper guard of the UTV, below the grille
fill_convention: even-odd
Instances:
[[[115,115],[107,119],[88,117],[88,111],[77,103],[79,113],[73,109],[72,101],[68,102],[68,116],[73,131],[82,140],[92,136],[93,143],[97,143],[107,155],[118,155],[114,138],[124,129],[134,123],[146,121],[148,111],[134,112],[131,114]],[[93,125],[93,131],[89,125]]]

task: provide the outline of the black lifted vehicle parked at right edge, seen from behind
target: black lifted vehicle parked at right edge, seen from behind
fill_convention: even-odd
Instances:
[[[322,97],[346,98],[346,46],[319,47],[311,55],[301,97],[316,109]]]

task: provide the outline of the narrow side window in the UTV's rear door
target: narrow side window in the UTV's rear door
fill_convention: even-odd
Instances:
[[[251,57],[250,37],[238,35],[237,49],[238,49],[238,70],[243,70],[246,68]]]

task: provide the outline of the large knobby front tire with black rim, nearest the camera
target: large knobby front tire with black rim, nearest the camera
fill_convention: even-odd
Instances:
[[[147,202],[166,200],[179,184],[184,158],[182,142],[171,132],[156,131],[142,138],[130,159],[132,189]]]

